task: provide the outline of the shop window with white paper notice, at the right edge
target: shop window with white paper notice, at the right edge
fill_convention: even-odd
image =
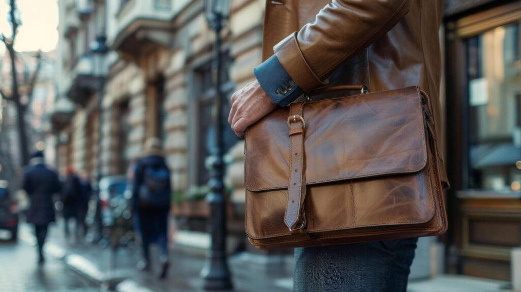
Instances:
[[[519,23],[497,27],[465,41],[468,188],[518,192],[521,190]]]

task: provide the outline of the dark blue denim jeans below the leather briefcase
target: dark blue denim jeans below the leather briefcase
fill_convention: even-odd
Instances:
[[[417,240],[295,248],[293,290],[405,292]]]

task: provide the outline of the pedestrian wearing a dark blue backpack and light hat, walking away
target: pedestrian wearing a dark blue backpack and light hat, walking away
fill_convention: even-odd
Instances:
[[[167,233],[171,184],[161,145],[160,139],[148,138],[143,155],[134,164],[132,209],[133,215],[137,216],[143,249],[143,260],[138,263],[138,269],[151,269],[149,247],[156,243],[161,265],[159,278],[163,279],[169,267]]]

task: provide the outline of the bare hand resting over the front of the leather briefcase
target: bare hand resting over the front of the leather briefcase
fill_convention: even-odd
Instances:
[[[235,135],[244,136],[244,131],[277,107],[264,92],[257,80],[246,84],[231,96],[228,123]]]

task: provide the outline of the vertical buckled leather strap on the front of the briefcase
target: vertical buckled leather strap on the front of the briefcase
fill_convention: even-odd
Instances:
[[[290,105],[290,175],[288,184],[288,204],[284,223],[291,232],[301,230],[306,225],[304,199],[306,197],[306,176],[304,159],[305,122],[303,108],[305,103]]]

